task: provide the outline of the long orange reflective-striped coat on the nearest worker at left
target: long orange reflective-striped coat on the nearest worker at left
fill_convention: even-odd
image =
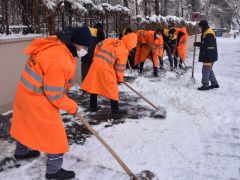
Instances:
[[[11,136],[23,145],[50,154],[68,151],[60,109],[73,114],[75,101],[65,90],[74,78],[76,60],[56,37],[35,39],[14,99]]]

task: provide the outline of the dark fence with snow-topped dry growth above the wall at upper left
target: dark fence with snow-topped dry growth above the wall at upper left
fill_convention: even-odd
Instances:
[[[54,7],[37,0],[0,0],[0,33],[55,34],[67,26],[92,27],[101,22],[108,36],[108,33],[118,33],[131,23],[129,9],[120,5],[104,3],[100,8],[94,4],[82,4],[82,9],[74,9],[75,6],[67,0],[59,1]]]

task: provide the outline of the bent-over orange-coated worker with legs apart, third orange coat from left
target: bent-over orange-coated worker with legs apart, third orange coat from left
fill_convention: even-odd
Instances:
[[[143,34],[143,35],[142,35]],[[161,55],[161,49],[163,48],[162,30],[156,31],[144,31],[139,36],[139,44],[137,48],[137,55],[135,57],[135,64],[140,63],[140,74],[143,73],[143,65],[146,58],[149,58],[153,62],[153,74],[158,76],[158,55]],[[140,55],[139,55],[139,54]]]

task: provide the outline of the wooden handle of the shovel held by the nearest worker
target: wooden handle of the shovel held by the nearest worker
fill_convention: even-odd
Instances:
[[[114,159],[120,164],[120,166],[125,170],[125,172],[131,177],[135,178],[135,175],[128,168],[128,166],[123,162],[123,160],[114,152],[114,150],[104,141],[104,139],[93,129],[93,127],[79,114],[76,116],[80,119],[80,121],[88,128],[89,131],[101,142],[101,144],[111,153]]]

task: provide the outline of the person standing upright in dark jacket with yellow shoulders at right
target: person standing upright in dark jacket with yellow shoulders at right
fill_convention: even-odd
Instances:
[[[200,21],[198,25],[202,32],[201,42],[195,42],[194,46],[200,47],[199,62],[203,63],[202,86],[198,90],[204,91],[219,88],[218,81],[213,72],[213,64],[218,60],[216,35],[206,20]],[[209,81],[211,82],[210,86]]]

